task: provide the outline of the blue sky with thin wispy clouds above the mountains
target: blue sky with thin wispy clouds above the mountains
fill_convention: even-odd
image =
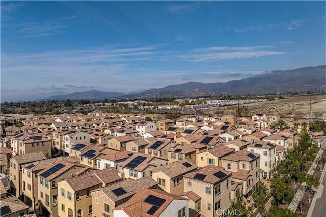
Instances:
[[[1,101],[325,64],[325,1],[1,1]]]

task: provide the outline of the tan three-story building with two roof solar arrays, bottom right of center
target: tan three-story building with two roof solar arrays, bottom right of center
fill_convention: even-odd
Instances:
[[[192,191],[201,199],[191,207],[204,216],[221,216],[231,204],[232,172],[222,167],[207,165],[183,175],[184,192]]]

